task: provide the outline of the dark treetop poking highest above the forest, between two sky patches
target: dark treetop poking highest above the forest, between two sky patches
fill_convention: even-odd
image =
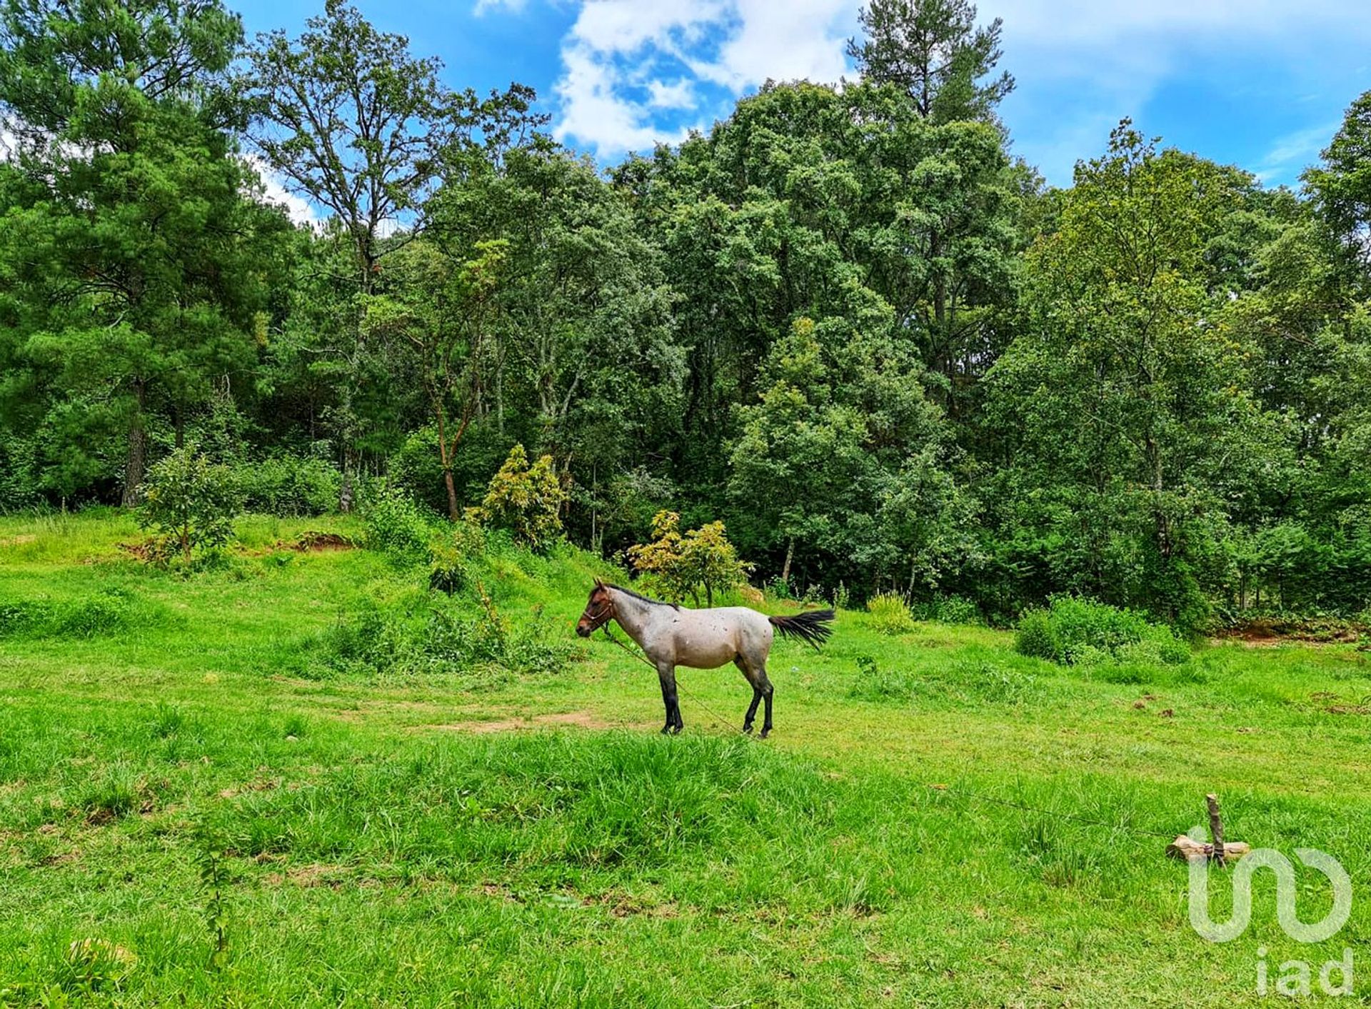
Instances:
[[[1002,22],[978,27],[969,0],[871,0],[857,16],[865,38],[850,38],[847,55],[866,80],[908,92],[925,119],[993,122],[1015,88],[1008,73],[979,84],[1002,55]]]

